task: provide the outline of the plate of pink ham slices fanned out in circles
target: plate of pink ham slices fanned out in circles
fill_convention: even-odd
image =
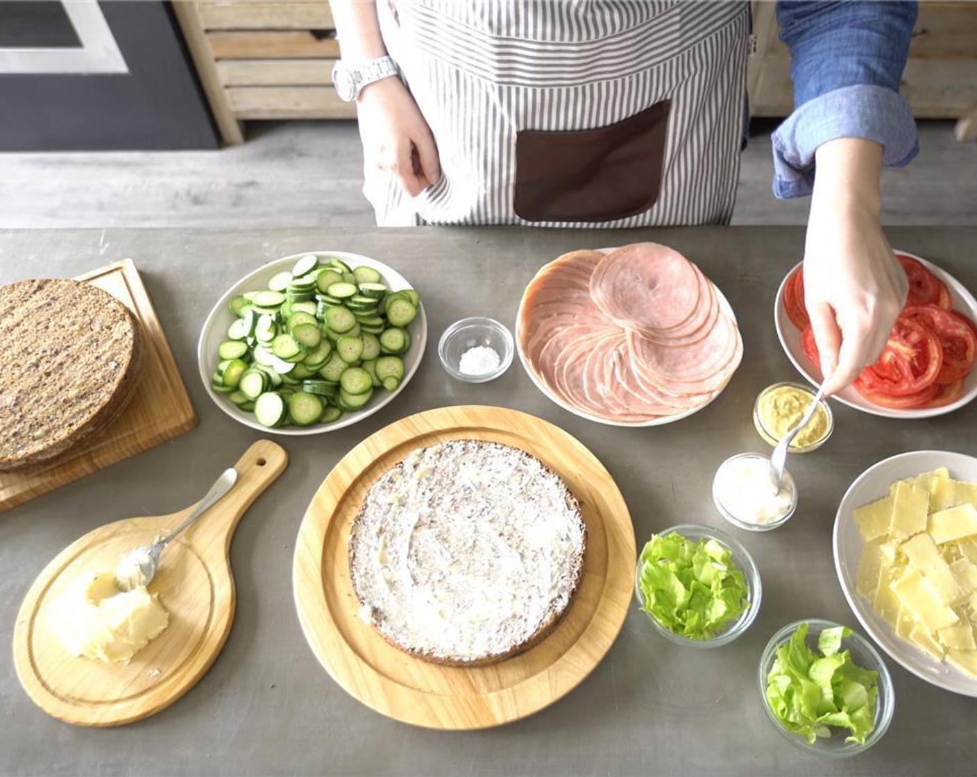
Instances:
[[[519,348],[537,382],[596,420],[687,415],[722,391],[743,357],[715,286],[678,251],[634,243],[573,251],[523,294]]]

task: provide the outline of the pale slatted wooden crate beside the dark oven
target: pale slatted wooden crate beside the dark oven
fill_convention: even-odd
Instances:
[[[339,43],[327,0],[173,4],[225,143],[244,119],[355,118],[336,96]]]

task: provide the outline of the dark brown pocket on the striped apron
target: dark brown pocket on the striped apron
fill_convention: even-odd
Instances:
[[[513,207],[526,221],[614,221],[658,200],[669,101],[588,130],[516,134]]]

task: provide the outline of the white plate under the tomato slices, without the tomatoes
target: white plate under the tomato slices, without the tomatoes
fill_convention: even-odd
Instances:
[[[971,321],[977,321],[977,299],[974,299],[973,294],[967,291],[966,287],[960,281],[957,281],[950,273],[941,270],[932,262],[927,262],[925,259],[899,248],[896,248],[895,251],[920,262],[940,281],[946,283],[947,288],[950,289],[950,296],[954,299],[954,310],[969,316]],[[777,300],[774,302],[774,324],[777,326],[777,336],[781,340],[781,345],[784,347],[787,358],[794,367],[797,367],[797,371],[807,378],[810,383],[818,386],[822,382],[821,368],[812,367],[807,361],[807,357],[804,356],[804,351],[800,346],[800,332],[796,326],[790,323],[790,319],[787,318],[786,308],[784,307],[784,286],[786,285],[787,279],[793,275],[794,270],[800,267],[800,265],[801,263],[798,262],[790,269],[790,272],[784,277],[784,281],[781,281],[780,288],[777,289]],[[871,412],[872,415],[881,415],[886,418],[929,418],[933,415],[943,415],[944,413],[958,410],[974,397],[977,397],[977,369],[972,370],[967,375],[966,380],[963,381],[963,394],[960,395],[960,398],[950,405],[944,405],[942,408],[920,408],[919,410],[882,408],[869,402],[869,400],[855,390],[854,386],[848,386],[844,390],[839,391],[832,399],[837,399],[838,402],[842,405],[847,405],[849,408],[864,410],[865,412]]]

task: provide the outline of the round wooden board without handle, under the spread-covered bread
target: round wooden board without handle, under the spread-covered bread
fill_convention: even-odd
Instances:
[[[583,579],[565,617],[530,650],[488,667],[442,667],[388,644],[358,617],[350,580],[350,525],[369,487],[411,450],[462,439],[534,455],[570,487],[587,528]],[[593,453],[526,413],[461,406],[403,418],[347,453],[309,505],[292,574],[306,639],[336,682],[368,707],[406,723],[472,729],[541,710],[597,666],[627,614],[634,565],[627,506]]]

